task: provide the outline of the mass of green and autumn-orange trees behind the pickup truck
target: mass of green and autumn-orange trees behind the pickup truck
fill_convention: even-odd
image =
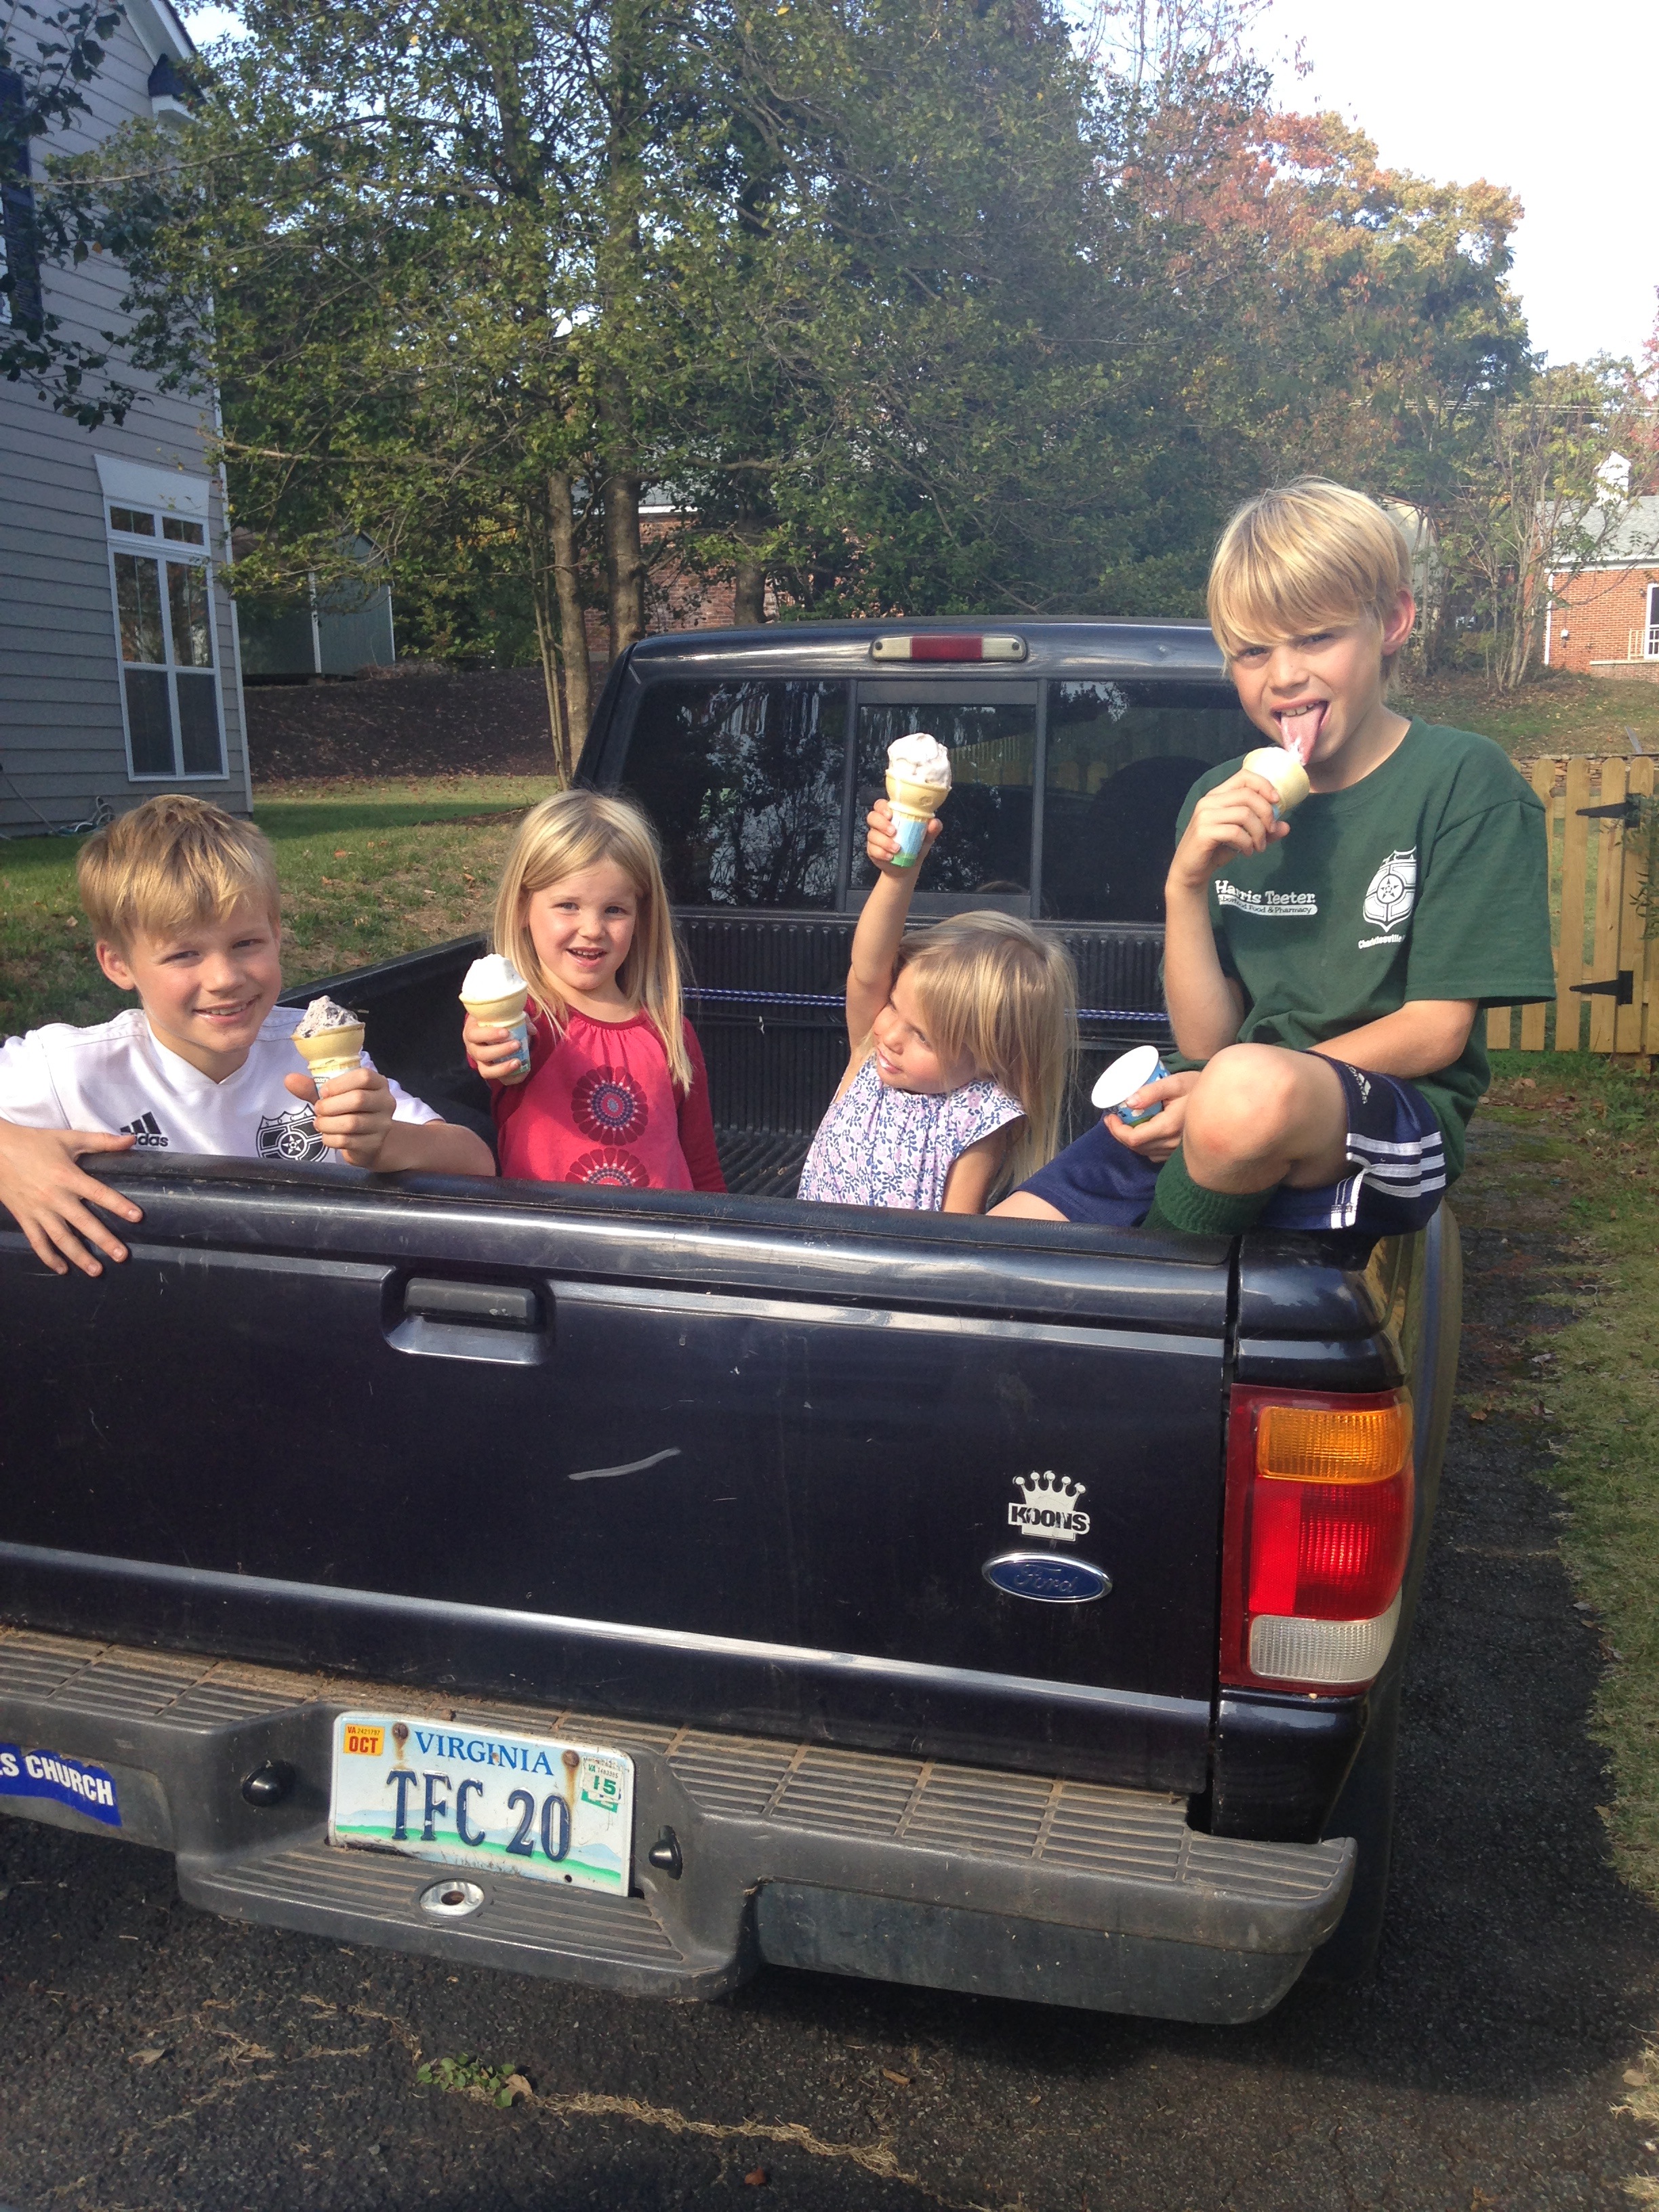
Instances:
[[[560,772],[655,560],[801,613],[1194,613],[1321,469],[1449,522],[1533,374],[1511,195],[1274,108],[1230,0],[250,0],[55,181],[217,376],[241,588],[522,591]],[[641,489],[672,529],[646,544]],[[1462,511],[1462,509],[1460,509]]]

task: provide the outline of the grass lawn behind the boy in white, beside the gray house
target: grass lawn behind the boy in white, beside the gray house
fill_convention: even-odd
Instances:
[[[288,783],[254,803],[283,885],[290,984],[482,929],[513,823],[549,785],[522,776]],[[102,1022],[122,1004],[93,960],[71,838],[0,845],[0,1035]]]

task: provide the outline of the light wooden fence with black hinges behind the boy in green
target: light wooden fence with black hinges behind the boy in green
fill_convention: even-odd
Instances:
[[[1555,1020],[1548,1004],[1493,1006],[1486,1044],[1522,1053],[1659,1053],[1659,938],[1648,936],[1652,838],[1630,801],[1652,799],[1648,754],[1515,763],[1551,825]],[[1588,1022],[1588,1037],[1584,1024]]]

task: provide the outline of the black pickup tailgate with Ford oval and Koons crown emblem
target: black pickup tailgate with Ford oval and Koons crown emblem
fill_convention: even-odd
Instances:
[[[0,1234],[7,1617],[1203,1787],[1223,1243],[106,1179],[144,1223],[100,1281]]]

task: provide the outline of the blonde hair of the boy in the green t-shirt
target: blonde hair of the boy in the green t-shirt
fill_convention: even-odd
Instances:
[[[1347,484],[1298,476],[1245,500],[1221,531],[1210,628],[1234,659],[1332,619],[1374,615],[1387,628],[1402,591],[1411,591],[1411,551],[1394,515]]]

